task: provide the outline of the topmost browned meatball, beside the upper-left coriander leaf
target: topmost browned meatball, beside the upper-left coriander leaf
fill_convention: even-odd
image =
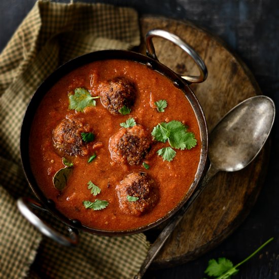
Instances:
[[[102,105],[112,114],[120,114],[123,106],[129,109],[135,100],[135,87],[133,83],[124,78],[115,78],[108,82],[102,82],[98,86]]]

